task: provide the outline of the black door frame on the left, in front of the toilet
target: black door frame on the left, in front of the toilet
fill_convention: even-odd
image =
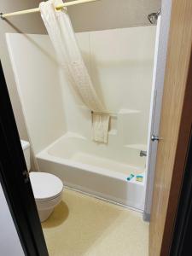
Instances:
[[[0,182],[24,253],[32,256],[47,256],[44,234],[38,218],[1,62],[0,152]]]

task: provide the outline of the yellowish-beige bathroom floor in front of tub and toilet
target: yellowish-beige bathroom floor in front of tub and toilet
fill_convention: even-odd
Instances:
[[[142,214],[65,189],[43,224],[49,256],[147,256]]]

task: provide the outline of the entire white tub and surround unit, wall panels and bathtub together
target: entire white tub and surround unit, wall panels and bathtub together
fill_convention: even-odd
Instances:
[[[113,113],[108,144],[92,140],[90,110],[69,88],[49,37],[7,34],[39,170],[73,189],[143,211],[147,171],[140,151],[147,150],[155,26],[76,36],[97,93]],[[144,174],[143,182],[128,182],[131,173]]]

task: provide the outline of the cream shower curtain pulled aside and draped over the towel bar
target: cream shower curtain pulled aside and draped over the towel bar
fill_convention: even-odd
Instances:
[[[93,139],[108,143],[109,114],[96,95],[96,90],[84,65],[67,9],[57,11],[62,1],[49,0],[39,5],[44,25],[54,45],[58,61],[73,81],[74,90],[92,113]]]

